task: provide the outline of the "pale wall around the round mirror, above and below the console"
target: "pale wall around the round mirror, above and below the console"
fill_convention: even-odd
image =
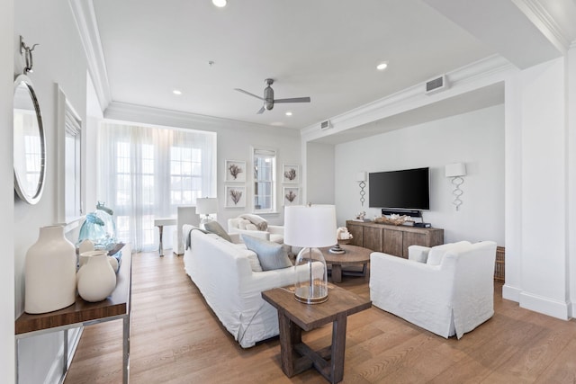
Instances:
[[[3,5],[2,17],[5,13]],[[18,317],[23,312],[23,268],[26,251],[37,240],[38,228],[58,221],[57,98],[54,83],[60,85],[81,119],[85,121],[86,63],[84,49],[67,0],[14,2],[14,31],[11,35],[12,33],[14,39],[11,40],[10,49],[3,49],[3,52],[11,50],[11,55],[14,53],[14,60],[8,69],[10,74],[19,74],[23,70],[18,46],[19,35],[23,36],[27,45],[40,43],[33,52],[34,68],[29,77],[39,98],[47,148],[46,184],[40,202],[32,206],[18,199],[14,200],[14,192],[8,200],[14,201],[14,269],[11,270],[14,271],[15,279],[15,317]],[[9,142],[12,142],[12,139]],[[3,151],[3,154],[6,153]],[[12,171],[4,174],[4,180],[12,178]],[[14,332],[14,325],[12,330]],[[62,353],[61,332],[23,340],[19,359],[21,382],[57,380],[60,375],[56,365],[59,353]]]

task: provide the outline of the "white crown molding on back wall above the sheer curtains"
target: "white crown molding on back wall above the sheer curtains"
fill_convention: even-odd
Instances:
[[[299,136],[297,129],[273,127],[265,124],[256,124],[246,121],[235,121],[219,117],[200,115],[190,112],[165,110],[131,103],[112,102],[104,112],[104,119],[108,121],[130,121],[145,125],[164,126],[170,128],[199,129],[210,131],[232,130],[243,132],[259,129],[274,129],[275,134],[283,136]]]

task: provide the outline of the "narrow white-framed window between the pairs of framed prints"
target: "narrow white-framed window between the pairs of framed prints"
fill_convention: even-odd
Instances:
[[[254,148],[254,211],[275,212],[276,210],[276,151]]]

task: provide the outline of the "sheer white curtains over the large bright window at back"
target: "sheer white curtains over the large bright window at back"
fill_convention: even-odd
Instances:
[[[98,200],[114,210],[119,239],[137,251],[157,249],[155,217],[216,195],[212,132],[103,122],[98,156]]]

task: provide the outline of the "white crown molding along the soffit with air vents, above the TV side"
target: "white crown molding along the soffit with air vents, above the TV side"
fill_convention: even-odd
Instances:
[[[402,91],[367,103],[349,112],[330,117],[331,129],[321,130],[320,121],[301,130],[302,139],[324,138],[354,129],[358,126],[391,117],[401,112],[408,112],[429,103],[436,103],[458,94],[473,91],[486,85],[503,81],[510,71],[518,71],[507,59],[500,55],[483,58],[467,66],[455,69],[446,74],[449,88],[437,94],[425,94],[426,82],[412,85]]]

